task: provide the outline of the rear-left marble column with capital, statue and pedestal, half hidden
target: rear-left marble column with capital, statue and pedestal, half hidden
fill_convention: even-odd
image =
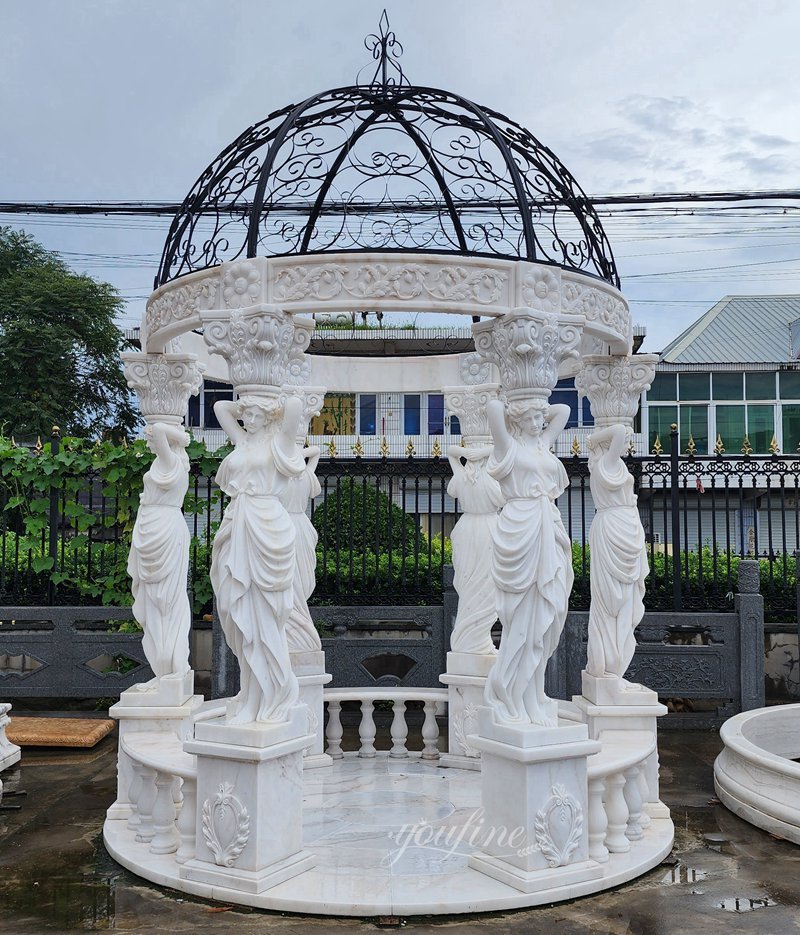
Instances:
[[[283,389],[287,397],[297,396],[303,406],[300,420],[302,431],[297,435],[297,447],[306,465],[302,474],[290,479],[282,498],[297,534],[294,602],[286,624],[286,639],[289,644],[292,670],[300,685],[300,702],[308,708],[309,733],[314,734],[314,743],[304,751],[303,768],[316,769],[333,764],[332,758],[325,753],[323,695],[324,686],[331,681],[333,676],[325,671],[325,652],[322,649],[322,641],[308,609],[308,599],[316,585],[317,531],[306,510],[309,501],[319,495],[321,488],[315,473],[320,450],[317,447],[306,447],[306,434],[309,420],[312,416],[319,415],[322,409],[325,387],[300,386],[290,383]]]

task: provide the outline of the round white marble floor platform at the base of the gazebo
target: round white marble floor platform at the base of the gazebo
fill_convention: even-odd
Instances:
[[[106,822],[106,847],[139,876],[197,896],[350,916],[488,912],[574,899],[639,876],[672,847],[672,822],[653,818],[627,854],[610,855],[599,879],[526,894],[467,866],[481,833],[479,772],[346,754],[330,768],[307,771],[304,787],[304,843],[316,866],[259,895],[181,880],[174,855],[150,853],[122,820]]]

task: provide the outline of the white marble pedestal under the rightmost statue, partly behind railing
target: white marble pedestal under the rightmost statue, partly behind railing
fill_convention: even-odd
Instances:
[[[584,694],[574,695],[572,701],[586,721],[593,740],[603,731],[648,731],[655,737],[658,718],[667,713],[666,705],[659,702],[656,692],[642,685],[631,685],[622,679],[594,679],[584,672],[582,687]],[[586,697],[587,691],[597,700]],[[647,814],[651,818],[669,818],[669,809],[660,799],[657,745],[647,758],[645,778]]]

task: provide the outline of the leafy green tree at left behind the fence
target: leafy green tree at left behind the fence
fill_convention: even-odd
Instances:
[[[126,341],[108,283],[73,273],[0,227],[0,426],[18,438],[127,435],[138,416],[119,360]]]

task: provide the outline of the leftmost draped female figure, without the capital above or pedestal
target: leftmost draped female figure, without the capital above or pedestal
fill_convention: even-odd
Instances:
[[[186,591],[189,528],[181,512],[189,486],[189,436],[182,426],[165,422],[148,425],[144,435],[156,457],[144,475],[128,574],[133,616],[144,630],[142,648],[156,678],[140,683],[139,690],[154,688],[160,678],[186,675],[192,625]]]

